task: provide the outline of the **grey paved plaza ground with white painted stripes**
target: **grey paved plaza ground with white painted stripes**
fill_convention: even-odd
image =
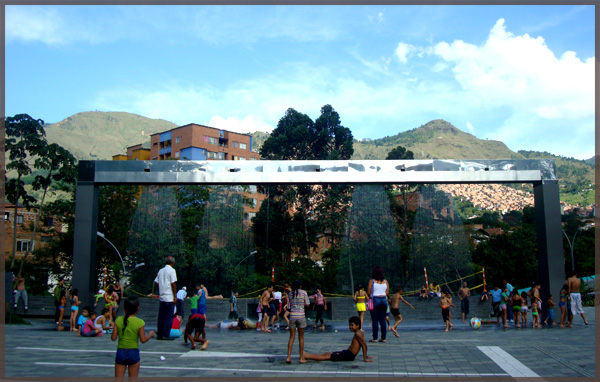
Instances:
[[[385,344],[368,344],[373,363],[364,363],[359,354],[354,362],[301,365],[296,339],[293,363],[287,365],[289,335],[284,330],[209,329],[210,345],[205,351],[191,351],[183,340],[152,339],[141,344],[140,377],[594,377],[594,313],[593,308],[586,308],[590,325],[578,318],[572,329],[502,330],[483,325],[473,330],[455,320],[455,329],[445,333],[441,320],[404,322],[400,338],[391,335]],[[116,343],[108,335],[76,337],[72,332],[52,330],[50,320],[31,322],[32,326],[6,326],[5,378],[114,375]],[[347,323],[327,324],[325,332],[307,330],[307,352],[347,348],[352,337]],[[155,325],[148,322],[147,330]],[[370,339],[370,328],[366,329]]]

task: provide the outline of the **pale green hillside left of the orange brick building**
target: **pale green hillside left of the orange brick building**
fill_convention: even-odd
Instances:
[[[124,112],[77,113],[45,126],[48,142],[58,143],[77,159],[111,159],[126,148],[149,142],[150,135],[177,127],[163,119]]]

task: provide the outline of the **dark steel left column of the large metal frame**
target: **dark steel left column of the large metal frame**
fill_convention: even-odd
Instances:
[[[75,193],[75,232],[73,236],[73,280],[79,289],[81,306],[93,305],[96,280],[96,232],[98,231],[99,187],[94,184],[95,163],[79,162]]]

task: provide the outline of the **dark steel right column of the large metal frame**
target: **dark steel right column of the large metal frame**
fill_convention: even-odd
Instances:
[[[548,296],[559,295],[565,282],[565,259],[560,218],[560,197],[557,180],[543,180],[534,183],[535,222],[538,244],[538,280],[541,285],[540,297],[545,305]],[[560,310],[555,308],[555,317]]]

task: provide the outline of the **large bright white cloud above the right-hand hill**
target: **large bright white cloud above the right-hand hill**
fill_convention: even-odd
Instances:
[[[465,92],[483,105],[528,110],[543,119],[594,115],[594,58],[557,58],[542,37],[515,36],[499,19],[482,46],[441,42],[434,54],[452,65]]]

